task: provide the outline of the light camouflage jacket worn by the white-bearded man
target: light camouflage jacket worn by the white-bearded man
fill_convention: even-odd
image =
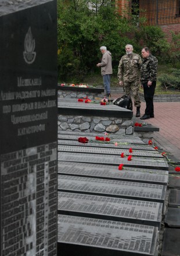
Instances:
[[[138,54],[124,55],[118,66],[118,80],[131,82],[140,78],[141,57]]]

